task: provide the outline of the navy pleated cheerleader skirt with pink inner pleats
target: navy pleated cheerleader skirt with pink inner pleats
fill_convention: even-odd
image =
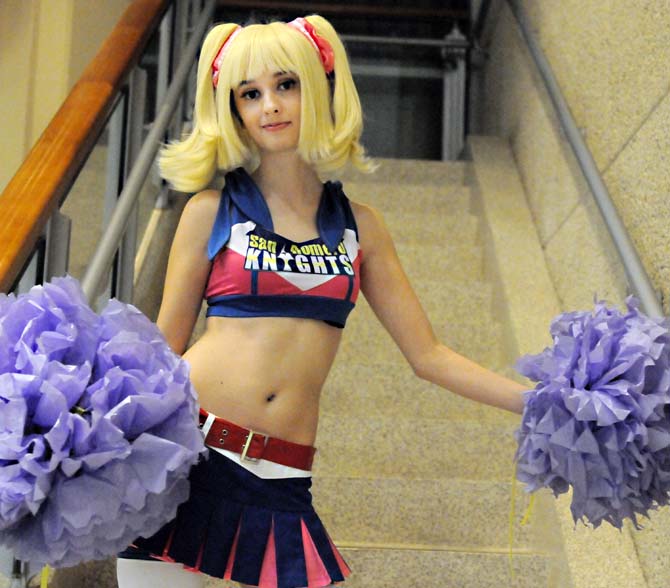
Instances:
[[[312,506],[311,478],[259,478],[210,449],[173,521],[119,557],[178,562],[261,588],[320,588],[350,570]]]

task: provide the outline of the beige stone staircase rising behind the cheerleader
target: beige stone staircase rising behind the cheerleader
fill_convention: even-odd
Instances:
[[[352,200],[382,212],[441,340],[511,375],[469,165],[384,160],[376,174],[343,182]],[[324,390],[314,472],[315,506],[353,571],[346,586],[567,588],[534,547],[537,520],[518,524],[520,486],[510,539],[518,423],[419,380],[361,296]],[[59,571],[53,586],[112,588],[113,565]]]

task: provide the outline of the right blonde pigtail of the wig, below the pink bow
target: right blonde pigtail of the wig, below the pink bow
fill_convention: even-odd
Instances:
[[[331,152],[325,161],[318,163],[323,172],[340,169],[351,161],[361,171],[374,170],[374,164],[365,156],[360,144],[363,133],[363,113],[358,91],[349,67],[349,58],[342,41],[333,26],[322,16],[311,15],[305,19],[333,48],[335,69],[332,90],[333,132]]]

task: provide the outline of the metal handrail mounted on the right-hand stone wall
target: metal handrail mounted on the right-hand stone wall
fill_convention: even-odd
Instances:
[[[565,98],[563,98],[563,94],[554,77],[551,66],[531,32],[528,18],[526,17],[521,3],[518,0],[507,0],[507,2],[519,24],[519,28],[528,45],[530,54],[545,83],[549,97],[556,109],[556,114],[565,131],[568,142],[577,158],[579,167],[584,174],[584,178],[586,179],[596,204],[605,220],[607,230],[609,231],[617,252],[619,253],[619,257],[621,258],[626,275],[630,281],[633,293],[640,300],[640,305],[645,313],[651,316],[663,316],[663,306],[661,305],[651,280],[640,261],[635,246],[626,231],[626,227],[621,221],[616,207],[612,202],[612,198],[607,190],[607,186],[603,182],[598,166],[570,113],[568,104],[565,101]]]

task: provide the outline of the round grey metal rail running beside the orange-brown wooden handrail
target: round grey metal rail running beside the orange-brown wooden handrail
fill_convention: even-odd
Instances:
[[[142,143],[142,148],[137,156],[135,165],[130,171],[126,184],[119,195],[109,225],[86,268],[81,285],[89,301],[95,298],[114,260],[133,207],[139,197],[140,190],[151,170],[156,153],[160,148],[161,140],[170,125],[172,115],[179,104],[181,93],[202,43],[202,38],[211,23],[215,8],[216,1],[207,0],[189,42],[182,53],[181,61],[156,116],[156,120],[152,123],[151,130]]]

